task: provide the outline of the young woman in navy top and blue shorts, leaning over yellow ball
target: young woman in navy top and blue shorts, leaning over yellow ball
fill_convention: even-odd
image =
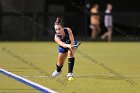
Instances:
[[[58,46],[58,59],[56,63],[56,70],[52,73],[52,76],[58,76],[61,73],[61,69],[64,65],[66,57],[68,57],[68,74],[67,77],[72,77],[73,67],[74,67],[74,53],[76,47],[73,45],[77,44],[74,39],[73,33],[70,28],[63,27],[63,22],[61,18],[57,18],[54,24],[56,31],[54,40],[59,45]]]

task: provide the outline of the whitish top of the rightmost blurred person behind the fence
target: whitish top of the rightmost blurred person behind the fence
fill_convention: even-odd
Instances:
[[[112,27],[113,25],[113,19],[110,10],[105,11],[104,24],[105,27]]]

